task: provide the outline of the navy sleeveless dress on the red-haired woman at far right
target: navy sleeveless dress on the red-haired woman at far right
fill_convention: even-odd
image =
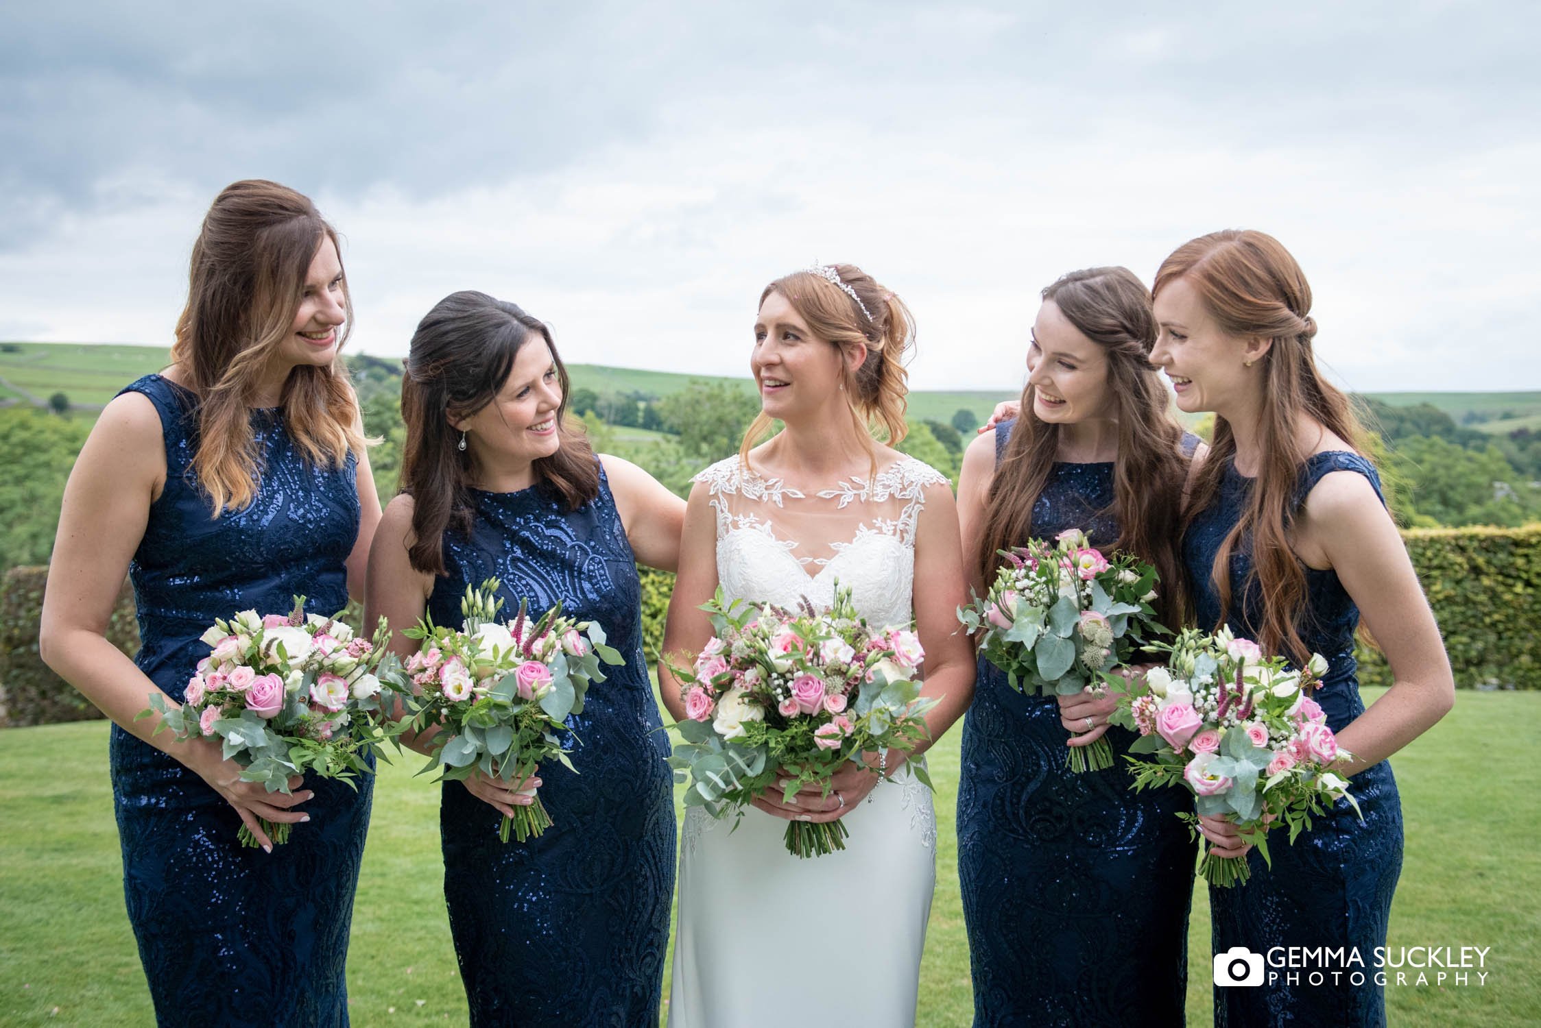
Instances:
[[[1322,476],[1333,471],[1362,474],[1381,494],[1375,466],[1359,454],[1330,451],[1311,456],[1301,469],[1296,505],[1305,500]],[[1234,465],[1225,468],[1220,494],[1188,526],[1183,562],[1194,589],[1194,609],[1200,626],[1219,620],[1219,594],[1210,579],[1214,554],[1247,508],[1253,480]],[[1230,562],[1231,596],[1242,596],[1251,569],[1250,540],[1237,546]],[[1327,713],[1327,725],[1342,731],[1364,713],[1359,699],[1358,668],[1353,656],[1359,608],[1344,591],[1336,571],[1305,568],[1307,609],[1301,637],[1313,653],[1327,657],[1328,671],[1316,689],[1316,702]],[[1237,636],[1256,639],[1262,603],[1256,585],[1233,602],[1227,623]],[[1359,771],[1348,780],[1364,811],[1364,823],[1345,800],[1328,817],[1313,819],[1313,828],[1294,845],[1287,837],[1270,839],[1273,869],[1253,849],[1248,856],[1251,879],[1234,888],[1210,889],[1214,953],[1248,946],[1267,953],[1271,946],[1358,946],[1364,959],[1362,983],[1348,973],[1333,983],[1311,985],[1307,973],[1299,983],[1285,979],[1285,968],[1267,968],[1279,979],[1257,988],[1214,990],[1214,1023],[1250,1028],[1251,1025],[1382,1025],[1384,990],[1375,985],[1375,946],[1385,945],[1392,896],[1402,869],[1402,803],[1385,760]],[[1348,966],[1345,971],[1359,970]]]

